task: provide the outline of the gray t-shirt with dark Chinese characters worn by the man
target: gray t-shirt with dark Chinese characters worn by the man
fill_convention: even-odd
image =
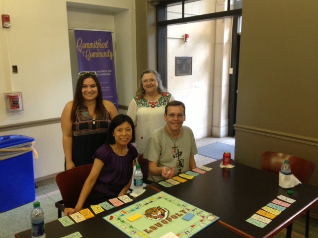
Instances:
[[[175,141],[175,139],[173,140]],[[175,153],[173,153],[173,141],[163,127],[156,129],[148,140],[144,152],[144,158],[149,161],[158,163],[158,167],[166,166],[169,169],[174,166],[175,174],[182,174],[189,171],[189,158],[198,153],[197,146],[192,130],[183,125],[182,134],[176,140]],[[149,180],[160,181],[164,179],[162,176],[151,176]]]

